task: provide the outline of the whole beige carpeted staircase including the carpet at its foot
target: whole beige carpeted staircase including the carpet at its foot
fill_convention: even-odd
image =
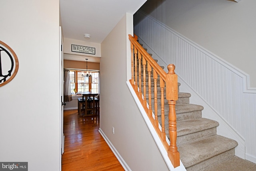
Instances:
[[[148,79],[147,74],[146,79]],[[151,80],[151,87],[154,87],[152,77]],[[159,84],[159,80],[157,83]],[[147,83],[146,86],[146,91],[148,91]],[[178,83],[179,86],[182,85]],[[158,86],[158,88],[158,102],[160,102],[160,87]],[[225,171],[255,171],[256,164],[235,156],[234,148],[238,143],[217,135],[216,127],[219,123],[202,118],[203,106],[190,104],[190,96],[191,94],[188,92],[178,92],[178,100],[176,102],[177,146],[180,152],[180,160],[187,171],[222,171],[223,166],[228,166],[227,168],[229,168],[225,169]],[[148,102],[148,96],[146,96],[146,99]],[[166,136],[169,138],[167,100],[165,101],[164,108],[165,131]],[[160,106],[157,110],[158,120],[161,123]],[[154,112],[154,105],[152,105],[152,111]]]

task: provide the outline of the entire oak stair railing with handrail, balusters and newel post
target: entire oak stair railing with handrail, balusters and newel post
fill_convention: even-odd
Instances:
[[[136,37],[136,36],[134,36]],[[176,127],[176,112],[175,105],[178,100],[178,78],[174,72],[175,66],[173,64],[168,65],[168,73],[166,73],[156,61],[146,52],[146,50],[138,43],[136,38],[129,34],[131,41],[131,72],[132,78],[130,83],[134,88],[144,110],[146,111],[150,122],[154,126],[160,140],[162,141],[170,161],[174,167],[180,165],[180,153],[176,145],[177,140],[177,127]],[[137,62],[138,60],[138,62]],[[142,67],[141,67],[142,66]],[[153,73],[152,73],[153,69]],[[146,90],[146,71],[148,72],[148,94]],[[152,91],[151,91],[151,76],[153,75],[154,80],[154,105],[152,105]],[[160,82],[160,96],[161,96],[161,125],[162,129],[159,129],[158,122],[158,88],[157,82]],[[143,85],[143,86],[142,86]],[[166,85],[166,86],[165,86]],[[166,100],[168,100],[168,132],[170,135],[170,144],[166,141],[166,133],[164,128],[164,88],[166,88]],[[148,95],[148,102],[146,96]],[[152,111],[154,107],[154,111]],[[154,112],[154,117],[152,116]]]

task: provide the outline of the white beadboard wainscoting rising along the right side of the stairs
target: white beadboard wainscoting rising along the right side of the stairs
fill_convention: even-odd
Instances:
[[[249,76],[143,12],[134,33],[222,118],[245,144],[244,158],[256,163],[256,89]],[[181,85],[182,86],[182,85]]]

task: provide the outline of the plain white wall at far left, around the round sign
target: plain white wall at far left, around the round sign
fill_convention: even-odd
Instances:
[[[0,14],[0,40],[19,60],[0,87],[0,161],[59,171],[59,1],[1,1]]]

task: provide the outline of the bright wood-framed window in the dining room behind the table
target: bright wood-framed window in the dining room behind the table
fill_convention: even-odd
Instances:
[[[85,91],[92,91],[99,93],[99,72],[98,71],[88,71],[88,75],[91,77],[85,77],[86,71],[75,71],[70,70],[70,84],[71,84],[71,94],[80,94]]]

